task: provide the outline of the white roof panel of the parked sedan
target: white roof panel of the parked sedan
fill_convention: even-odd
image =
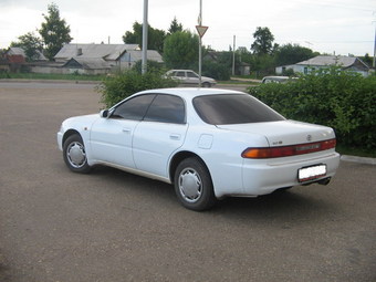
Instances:
[[[184,97],[186,100],[191,100],[197,96],[205,96],[205,95],[224,95],[224,94],[243,94],[248,95],[240,91],[232,91],[232,90],[221,90],[221,88],[199,88],[199,87],[177,87],[177,88],[156,88],[156,90],[147,90],[136,93],[135,95],[140,94],[171,94]]]

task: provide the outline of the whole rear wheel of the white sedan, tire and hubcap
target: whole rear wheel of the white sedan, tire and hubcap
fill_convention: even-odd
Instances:
[[[174,186],[176,196],[187,209],[206,210],[217,201],[210,174],[197,158],[186,158],[178,165]]]

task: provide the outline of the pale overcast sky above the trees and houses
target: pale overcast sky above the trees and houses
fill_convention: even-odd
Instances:
[[[376,0],[201,0],[202,44],[217,51],[250,50],[258,27],[274,43],[299,44],[336,55],[374,55]],[[0,0],[0,49],[36,32],[54,2],[71,28],[71,43],[123,43],[134,22],[143,22],[144,0]],[[174,18],[196,32],[200,0],[148,0],[148,23],[167,31]]]

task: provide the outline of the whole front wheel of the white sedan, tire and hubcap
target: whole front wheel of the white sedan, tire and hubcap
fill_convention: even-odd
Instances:
[[[65,165],[74,173],[87,174],[91,166],[87,164],[85,145],[79,134],[66,138],[63,146]]]

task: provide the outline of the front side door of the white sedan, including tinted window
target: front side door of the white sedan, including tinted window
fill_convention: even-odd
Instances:
[[[132,143],[135,128],[144,118],[155,95],[139,95],[116,106],[107,118],[98,118],[91,130],[93,158],[134,168]]]

